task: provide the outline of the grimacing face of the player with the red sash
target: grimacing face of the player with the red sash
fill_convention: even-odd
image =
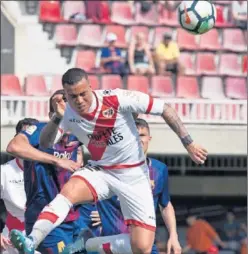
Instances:
[[[68,103],[79,115],[89,112],[93,94],[88,80],[83,78],[73,86],[65,84],[64,89]]]

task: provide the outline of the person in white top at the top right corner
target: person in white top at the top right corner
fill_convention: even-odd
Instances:
[[[234,24],[241,28],[247,29],[247,1],[232,2],[232,19]]]

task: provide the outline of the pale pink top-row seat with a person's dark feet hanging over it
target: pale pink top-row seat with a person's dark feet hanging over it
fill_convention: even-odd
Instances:
[[[153,26],[157,25],[157,11],[156,11],[156,5],[152,4],[151,9],[143,14],[141,13],[141,5],[140,3],[136,3],[136,15],[135,15],[135,21],[137,24],[141,25],[147,25],[147,26]]]

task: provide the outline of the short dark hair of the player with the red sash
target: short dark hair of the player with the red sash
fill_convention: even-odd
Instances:
[[[75,85],[80,80],[88,80],[88,74],[85,70],[80,68],[71,68],[62,76],[62,85]]]

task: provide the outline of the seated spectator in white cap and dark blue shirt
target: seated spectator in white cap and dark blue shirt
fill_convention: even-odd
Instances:
[[[121,50],[115,47],[117,36],[114,33],[107,34],[108,46],[102,48],[101,65],[106,72],[119,74],[122,77],[127,74],[125,59],[121,56]]]

